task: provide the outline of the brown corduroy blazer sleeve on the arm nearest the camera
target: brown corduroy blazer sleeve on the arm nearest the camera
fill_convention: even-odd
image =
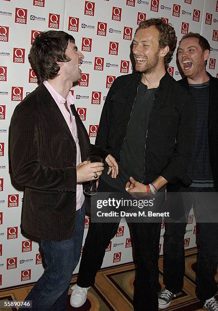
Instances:
[[[37,119],[37,112],[24,104],[18,105],[12,116],[10,153],[15,181],[22,186],[43,191],[76,192],[76,167],[55,168],[40,163]]]

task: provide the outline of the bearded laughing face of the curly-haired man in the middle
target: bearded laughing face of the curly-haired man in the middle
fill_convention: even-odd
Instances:
[[[142,73],[152,73],[159,65],[159,32],[155,26],[140,28],[133,39],[132,52],[135,69]]]

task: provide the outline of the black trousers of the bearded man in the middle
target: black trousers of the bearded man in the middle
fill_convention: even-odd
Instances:
[[[98,191],[116,192],[102,180],[99,183]],[[94,285],[96,273],[103,262],[105,249],[115,236],[118,227],[119,222],[90,222],[77,279],[77,284],[80,287]],[[158,311],[158,258],[161,222],[132,223],[132,231],[137,263],[133,307],[135,311]]]

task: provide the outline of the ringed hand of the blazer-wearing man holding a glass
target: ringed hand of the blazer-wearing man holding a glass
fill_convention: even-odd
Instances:
[[[80,163],[77,169],[77,182],[84,182],[89,180],[96,180],[102,174],[104,169],[103,163],[101,162],[94,162],[90,163],[88,161],[84,161]],[[98,177],[95,178],[94,175],[97,173]]]

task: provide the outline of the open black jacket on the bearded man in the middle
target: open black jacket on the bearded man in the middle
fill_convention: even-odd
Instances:
[[[140,80],[140,73],[118,77],[101,113],[95,144],[107,149],[118,162]],[[186,169],[192,158],[195,127],[196,110],[189,92],[166,73],[155,93],[148,133],[144,133],[144,184],[160,175],[170,183],[191,183]]]

